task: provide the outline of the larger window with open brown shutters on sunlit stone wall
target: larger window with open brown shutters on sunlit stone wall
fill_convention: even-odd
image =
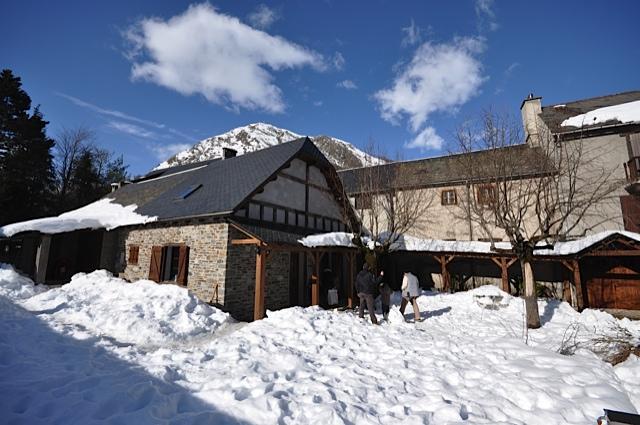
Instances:
[[[175,282],[187,285],[189,247],[185,245],[154,246],[151,248],[149,279],[155,282]]]

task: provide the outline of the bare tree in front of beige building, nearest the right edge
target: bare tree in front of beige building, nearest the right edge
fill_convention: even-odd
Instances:
[[[476,195],[463,200],[461,214],[492,241],[495,232],[502,231],[511,242],[522,268],[529,328],[540,327],[531,267],[534,251],[607,220],[595,207],[610,200],[621,184],[581,140],[557,142],[546,128],[534,136],[523,145],[520,125],[492,112],[457,132],[463,153],[484,151],[482,160],[459,156],[466,161],[463,166]]]

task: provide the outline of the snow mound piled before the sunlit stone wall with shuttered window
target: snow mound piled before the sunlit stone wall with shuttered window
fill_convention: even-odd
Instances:
[[[78,273],[70,283],[22,304],[58,322],[139,345],[179,343],[211,334],[229,320],[185,288],[148,280],[128,283],[105,270]]]

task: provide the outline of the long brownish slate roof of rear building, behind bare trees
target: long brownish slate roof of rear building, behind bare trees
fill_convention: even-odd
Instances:
[[[517,158],[519,164],[514,167],[517,174],[508,177],[527,177],[545,172],[548,160],[539,148],[529,145],[514,145],[500,149],[502,154]],[[363,181],[375,177],[380,190],[399,188],[419,188],[432,186],[457,185],[470,181],[481,181],[498,177],[491,166],[474,167],[470,164],[490,164],[494,151],[477,151],[464,154],[447,155],[413,161],[393,162],[368,168],[353,168],[339,171],[345,191],[348,194],[363,191]],[[549,170],[549,168],[546,168]],[[372,171],[373,170],[373,171]],[[372,174],[369,174],[372,173]],[[364,185],[367,186],[366,184]]]

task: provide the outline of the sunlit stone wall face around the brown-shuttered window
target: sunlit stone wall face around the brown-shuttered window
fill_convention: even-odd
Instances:
[[[120,276],[130,280],[148,279],[151,247],[185,244],[189,246],[189,274],[187,287],[205,302],[224,300],[227,259],[228,224],[185,223],[175,225],[147,225],[123,230],[120,258],[125,266]],[[126,264],[129,247],[139,247],[138,264]]]

